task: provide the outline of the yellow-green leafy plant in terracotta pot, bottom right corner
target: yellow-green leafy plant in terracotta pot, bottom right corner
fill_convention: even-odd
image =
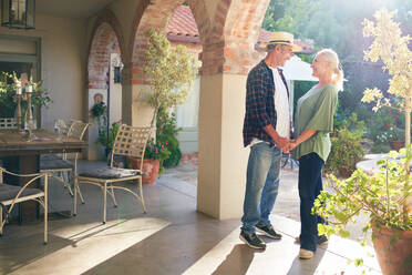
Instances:
[[[322,216],[328,224],[319,224],[319,235],[338,234],[348,237],[344,228],[360,214],[369,215],[370,222],[362,228],[372,230],[372,242],[383,274],[408,274],[412,268],[412,214],[404,210],[411,195],[411,179],[405,164],[412,161],[412,146],[399,153],[391,151],[385,160],[378,162],[379,170],[368,174],[357,170],[343,181],[328,175],[332,192],[322,191],[315,201],[313,214]],[[406,181],[406,184],[405,184]],[[357,259],[361,264],[362,259]]]

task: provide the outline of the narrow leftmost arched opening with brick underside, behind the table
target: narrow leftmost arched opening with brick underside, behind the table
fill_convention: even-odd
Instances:
[[[89,121],[93,122],[89,131],[89,160],[105,157],[105,144],[96,144],[95,141],[99,135],[110,132],[112,123],[122,119],[123,54],[119,34],[110,21],[99,23],[87,60],[87,110]],[[103,109],[96,108],[99,104]]]

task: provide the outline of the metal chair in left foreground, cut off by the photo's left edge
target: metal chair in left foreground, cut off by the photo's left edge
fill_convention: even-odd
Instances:
[[[32,177],[24,186],[10,185],[3,182],[3,173],[13,176]],[[4,224],[13,208],[18,203],[25,201],[35,201],[44,208],[44,244],[48,243],[48,174],[14,174],[6,171],[0,166],[0,236],[3,234]],[[44,177],[44,191],[39,189],[28,187],[38,179]],[[8,207],[8,210],[6,210]],[[3,218],[6,212],[6,218]]]

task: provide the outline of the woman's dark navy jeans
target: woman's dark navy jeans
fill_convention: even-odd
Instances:
[[[318,242],[318,223],[325,221],[311,214],[313,202],[322,186],[323,160],[317,153],[299,159],[299,197],[300,197],[300,248],[316,251]]]

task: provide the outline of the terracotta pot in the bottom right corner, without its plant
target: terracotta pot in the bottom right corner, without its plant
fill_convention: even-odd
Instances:
[[[372,242],[384,275],[408,275],[412,271],[412,231],[373,224]]]

